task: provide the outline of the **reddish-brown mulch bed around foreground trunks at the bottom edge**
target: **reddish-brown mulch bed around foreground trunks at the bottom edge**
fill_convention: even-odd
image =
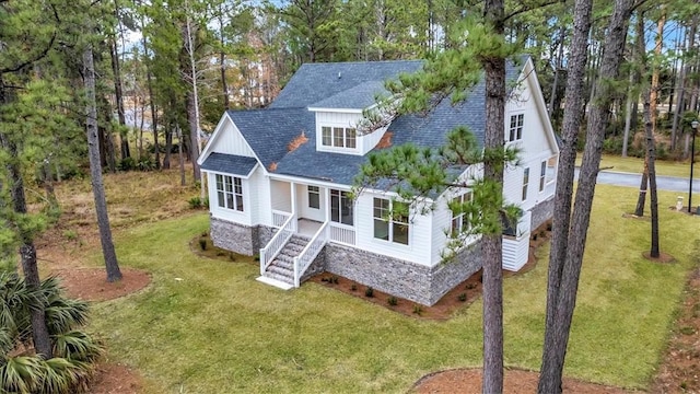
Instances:
[[[431,373],[419,380],[410,393],[416,394],[480,394],[481,369],[454,369]],[[516,369],[505,370],[503,378],[503,393],[521,394],[536,393],[539,374],[532,371]],[[637,391],[627,391],[619,387],[582,382],[575,379],[564,378],[564,393],[576,394],[629,394]]]

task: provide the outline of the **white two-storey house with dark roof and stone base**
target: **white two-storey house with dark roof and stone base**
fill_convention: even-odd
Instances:
[[[458,125],[483,140],[483,82],[462,104],[446,99],[427,116],[400,116],[371,134],[357,132],[363,109],[386,93],[383,82],[422,63],[304,65],[269,108],[226,112],[199,159],[209,181],[214,244],[259,253],[259,280],[270,285],[299,287],[328,271],[425,305],[479,270],[477,236],[455,262],[441,258],[445,234],[460,222],[447,202],[468,198],[468,190],[443,193],[434,210],[409,218],[388,218],[390,192],[365,189],[349,198],[366,154],[387,141],[439,147]],[[517,83],[503,137],[522,153],[505,172],[504,195],[525,213],[503,235],[503,266],[517,270],[527,262],[530,231],[551,217],[559,150],[532,60],[509,65],[508,79]]]

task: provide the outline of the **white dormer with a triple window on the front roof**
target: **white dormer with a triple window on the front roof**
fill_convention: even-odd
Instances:
[[[342,76],[338,76],[342,78]],[[386,127],[370,134],[358,132],[363,113],[386,95],[382,81],[366,81],[308,106],[315,113],[316,150],[364,155],[382,139]]]

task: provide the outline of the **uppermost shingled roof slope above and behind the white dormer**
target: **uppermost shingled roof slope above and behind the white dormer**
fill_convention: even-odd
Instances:
[[[305,63],[296,70],[270,108],[307,107],[368,81],[416,72],[423,60]]]

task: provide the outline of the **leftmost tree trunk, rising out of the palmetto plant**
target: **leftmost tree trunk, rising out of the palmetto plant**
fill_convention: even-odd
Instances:
[[[3,82],[0,79],[0,104],[5,103]],[[26,213],[26,199],[24,193],[24,179],[18,165],[19,154],[18,147],[10,141],[9,137],[0,132],[0,147],[2,147],[10,155],[8,164],[8,177],[10,181],[10,194],[12,197],[13,209],[16,213]],[[36,248],[31,233],[20,227],[20,257],[22,259],[22,271],[24,273],[24,281],[30,291],[38,291],[42,282],[39,271],[36,264]],[[34,348],[43,359],[52,357],[51,339],[46,325],[46,312],[44,303],[39,302],[30,309],[30,320],[32,323],[32,340]]]

